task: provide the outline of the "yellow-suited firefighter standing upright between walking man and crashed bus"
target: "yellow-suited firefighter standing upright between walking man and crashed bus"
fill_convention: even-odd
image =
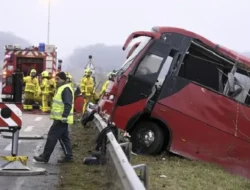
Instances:
[[[88,103],[91,101],[93,96],[93,91],[95,87],[94,79],[91,77],[92,71],[90,69],[85,70],[85,75],[81,80],[81,93],[84,98],[84,104],[82,108],[82,113],[84,114]]]

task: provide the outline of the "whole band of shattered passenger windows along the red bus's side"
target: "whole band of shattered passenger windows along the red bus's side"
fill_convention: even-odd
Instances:
[[[194,43],[178,76],[250,106],[250,73],[234,65],[231,60]]]

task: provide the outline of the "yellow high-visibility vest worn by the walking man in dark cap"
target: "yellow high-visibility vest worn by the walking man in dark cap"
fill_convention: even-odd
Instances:
[[[55,120],[62,120],[62,114],[64,111],[64,103],[62,101],[62,92],[65,88],[69,88],[71,93],[72,93],[72,97],[73,97],[73,101],[74,101],[74,93],[73,93],[73,89],[71,87],[70,84],[65,84],[60,86],[57,89],[57,92],[55,94],[55,96],[53,97],[53,102],[52,102],[52,109],[50,112],[50,118],[51,119],[55,119]],[[70,114],[67,117],[67,123],[68,124],[73,124],[74,123],[74,117],[73,117],[73,111],[74,111],[74,102],[72,101],[72,108],[70,110]]]

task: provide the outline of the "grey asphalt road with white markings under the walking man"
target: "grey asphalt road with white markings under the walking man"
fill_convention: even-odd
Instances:
[[[51,160],[47,164],[37,163],[33,160],[34,155],[38,155],[42,152],[43,146],[47,138],[47,132],[52,121],[48,115],[23,115],[23,126],[20,131],[20,135],[44,135],[44,139],[40,140],[19,140],[18,155],[28,156],[28,166],[34,166],[39,168],[45,168],[47,170],[46,175],[39,176],[0,176],[0,190],[53,190],[56,189],[58,183],[58,165],[57,159],[62,155],[62,150],[59,148],[60,144],[57,144]],[[11,155],[11,139],[3,138],[0,136],[0,155]],[[0,161],[2,165],[4,161]]]

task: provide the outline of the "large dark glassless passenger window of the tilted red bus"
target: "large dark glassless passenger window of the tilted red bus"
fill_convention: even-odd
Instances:
[[[233,68],[230,60],[192,43],[179,70],[179,77],[186,78],[219,93],[224,92],[228,73]]]

